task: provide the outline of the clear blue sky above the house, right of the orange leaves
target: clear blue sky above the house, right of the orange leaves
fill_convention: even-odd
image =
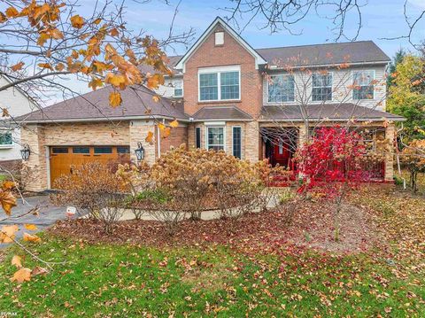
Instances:
[[[360,0],[366,4],[361,8],[362,27],[358,40],[373,40],[384,51],[392,57],[394,53],[403,47],[406,50],[414,50],[412,45],[406,40],[385,40],[383,38],[406,35],[408,28],[403,16],[405,0]],[[128,26],[135,30],[144,29],[147,34],[158,38],[164,37],[168,33],[169,24],[173,18],[175,5],[178,0],[170,0],[171,5],[166,5],[161,0],[151,0],[148,4],[137,3],[127,0],[128,6],[126,18]],[[231,5],[230,0],[219,1],[199,1],[182,0],[179,12],[174,21],[175,31],[183,31],[194,27],[197,36],[201,35],[205,28],[215,19],[216,16],[226,17],[228,12],[222,10]],[[414,19],[421,11],[425,10],[425,0],[408,0],[407,12]],[[321,15],[330,14],[326,10],[321,11]],[[244,25],[246,19],[238,19]],[[248,27],[241,31],[243,38],[254,48],[278,47],[290,45],[303,45],[314,43],[335,42],[336,35],[332,31],[332,23],[328,19],[318,17],[314,13],[307,15],[292,31],[300,35],[291,35],[288,31],[271,34],[269,29],[264,29],[265,20],[257,17],[251,21]],[[354,35],[357,27],[357,20],[347,18],[345,31],[348,35]],[[236,27],[236,26],[232,26]],[[425,39],[425,19],[415,28],[413,41],[416,43]],[[340,42],[347,42],[341,39]],[[185,48],[176,47],[168,50],[169,55],[182,54]]]

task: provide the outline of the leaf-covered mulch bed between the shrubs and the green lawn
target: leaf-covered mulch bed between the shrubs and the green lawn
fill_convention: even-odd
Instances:
[[[49,229],[58,237],[73,237],[87,243],[143,244],[155,247],[228,244],[245,252],[280,252],[286,248],[313,248],[331,252],[366,251],[373,243],[367,215],[355,206],[344,206],[341,213],[340,241],[335,242],[333,211],[323,203],[298,205],[290,225],[284,206],[274,211],[251,213],[238,221],[182,221],[170,237],[159,221],[120,221],[112,235],[101,222],[79,219],[58,221]],[[282,251],[283,252],[283,251]]]

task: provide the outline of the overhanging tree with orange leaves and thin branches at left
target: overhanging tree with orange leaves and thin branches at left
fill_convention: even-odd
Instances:
[[[76,94],[66,80],[86,81],[89,89],[105,85],[112,87],[109,103],[121,104],[120,91],[138,90],[141,85],[155,89],[170,75],[165,49],[174,43],[187,44],[193,30],[176,35],[173,21],[166,39],[158,40],[143,30],[128,28],[125,18],[125,2],[114,4],[58,0],[5,0],[0,3],[0,76],[7,82],[6,89],[21,89],[34,99],[37,105],[46,105],[58,92],[66,96]],[[143,72],[149,66],[150,72]],[[152,98],[159,101],[152,91]],[[97,105],[93,105],[97,107]],[[7,111],[3,112],[2,125],[17,122]],[[149,110],[146,110],[149,113]],[[169,128],[168,128],[169,129]],[[16,189],[16,185],[13,186]],[[0,191],[4,211],[11,214],[16,198],[10,186]],[[16,217],[19,217],[18,215]],[[18,226],[6,226],[1,230],[1,242],[15,242],[26,252],[27,248],[14,239]],[[39,241],[35,236],[24,236]],[[35,255],[32,254],[33,257]],[[35,257],[36,258],[36,257]],[[45,264],[50,267],[49,263]],[[19,261],[16,280],[29,280],[32,271],[22,268]]]

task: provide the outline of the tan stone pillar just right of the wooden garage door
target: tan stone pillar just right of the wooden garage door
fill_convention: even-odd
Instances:
[[[155,125],[154,123],[146,120],[132,120],[130,121],[130,158],[133,162],[136,162],[135,149],[137,149],[137,143],[141,142],[144,148],[144,160],[149,164],[153,165],[156,159],[156,148],[158,147],[158,140],[155,138]],[[145,139],[152,133],[151,143],[146,143]]]

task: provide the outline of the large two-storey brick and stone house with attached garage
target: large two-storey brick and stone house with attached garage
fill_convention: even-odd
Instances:
[[[114,109],[106,87],[22,117],[31,148],[27,190],[49,189],[73,164],[136,160],[140,144],[148,163],[186,143],[288,167],[297,145],[322,125],[350,123],[372,147],[377,138],[392,144],[403,118],[384,112],[389,62],[371,41],[255,50],[217,18],[185,55],[170,58],[174,75],[157,90],[158,103],[139,87],[124,90]],[[163,138],[158,122],[172,120],[180,125]],[[392,160],[372,167],[377,178],[392,181]]]

